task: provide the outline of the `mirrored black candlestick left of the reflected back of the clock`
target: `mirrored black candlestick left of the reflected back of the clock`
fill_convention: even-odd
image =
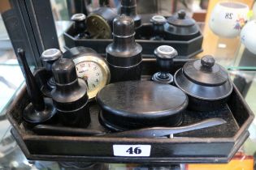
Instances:
[[[75,15],[72,15],[72,21],[75,22],[74,27],[76,30],[77,35],[75,36],[77,39],[86,38],[87,35],[85,33],[86,30],[86,23],[85,19],[86,16],[82,13],[78,13]]]

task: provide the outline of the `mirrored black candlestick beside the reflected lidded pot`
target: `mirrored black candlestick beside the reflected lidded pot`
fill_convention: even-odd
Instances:
[[[162,15],[154,15],[150,19],[150,23],[153,24],[153,37],[150,40],[163,40],[164,39],[164,24],[167,23]]]

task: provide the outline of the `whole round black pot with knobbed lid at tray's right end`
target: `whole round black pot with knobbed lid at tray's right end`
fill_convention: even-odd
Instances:
[[[186,62],[176,71],[174,83],[189,96],[189,109],[196,111],[223,108],[233,89],[228,71],[212,56]]]

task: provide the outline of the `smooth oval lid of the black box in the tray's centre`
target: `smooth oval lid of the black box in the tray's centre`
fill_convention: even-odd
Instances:
[[[179,88],[152,81],[111,83],[98,92],[96,100],[106,113],[136,121],[169,117],[188,105]]]

